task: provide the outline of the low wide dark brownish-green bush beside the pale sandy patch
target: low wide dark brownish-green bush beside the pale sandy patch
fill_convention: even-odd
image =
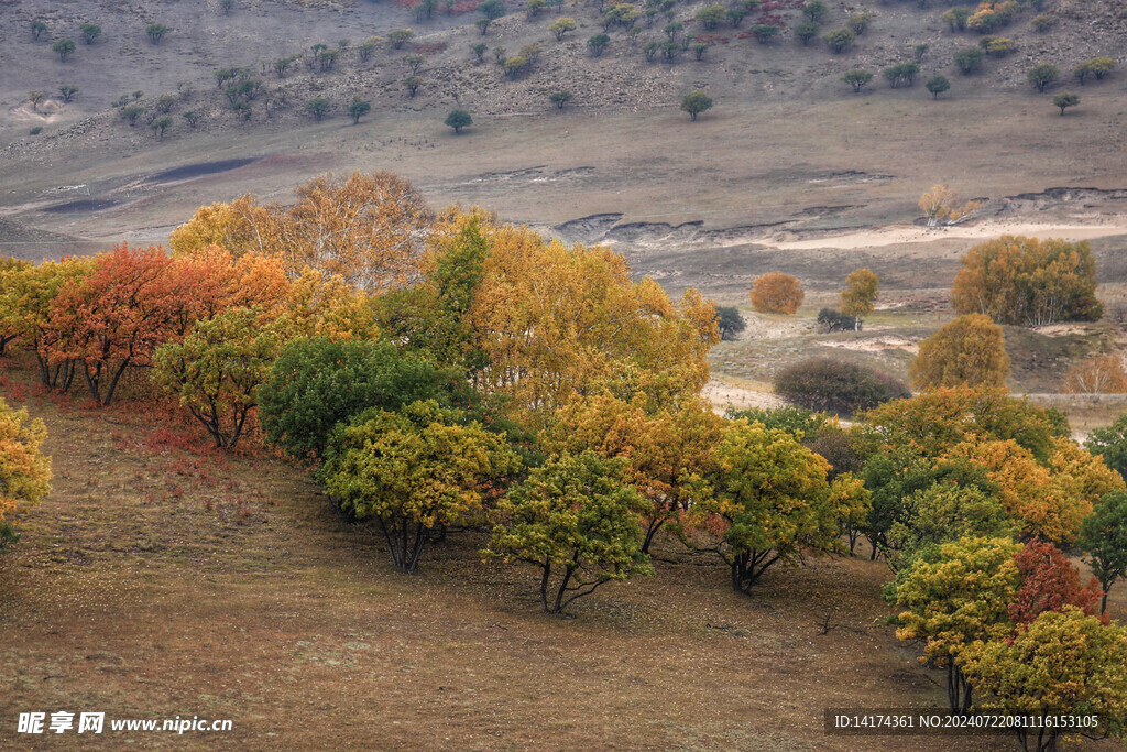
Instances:
[[[853,415],[912,392],[906,384],[863,365],[811,359],[780,371],[775,393],[807,409]]]

